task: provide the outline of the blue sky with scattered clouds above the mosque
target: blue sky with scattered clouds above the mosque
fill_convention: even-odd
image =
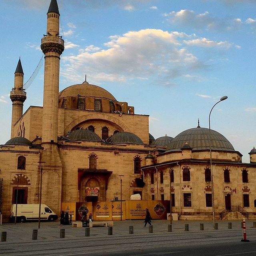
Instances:
[[[14,72],[34,72],[50,0],[0,1],[0,144],[10,139]],[[87,81],[150,115],[154,138],[197,126],[223,134],[249,162],[256,146],[256,0],[58,0],[65,50],[60,90]],[[44,66],[24,112],[42,106]]]

